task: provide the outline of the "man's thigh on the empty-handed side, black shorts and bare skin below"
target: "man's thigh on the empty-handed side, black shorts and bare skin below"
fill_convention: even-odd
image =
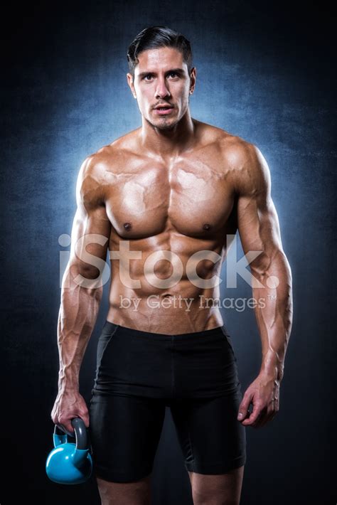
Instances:
[[[196,505],[240,503],[246,462],[245,427],[237,421],[241,399],[239,390],[170,405]]]

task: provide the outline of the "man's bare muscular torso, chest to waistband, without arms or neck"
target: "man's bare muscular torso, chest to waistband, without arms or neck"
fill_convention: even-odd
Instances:
[[[196,140],[179,156],[142,151],[140,129],[94,155],[92,203],[105,206],[111,223],[110,255],[138,252],[123,265],[111,259],[107,320],[115,324],[167,334],[223,324],[219,282],[210,280],[220,277],[226,235],[237,230],[236,152],[245,142],[193,123]],[[200,251],[209,252],[193,257]]]

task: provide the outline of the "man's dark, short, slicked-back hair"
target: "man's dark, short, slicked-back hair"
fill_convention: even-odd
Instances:
[[[127,62],[132,77],[134,78],[134,68],[139,63],[138,55],[141,51],[164,47],[176,48],[182,53],[188,67],[188,75],[191,75],[192,50],[187,38],[167,26],[149,26],[138,33],[127,50]]]

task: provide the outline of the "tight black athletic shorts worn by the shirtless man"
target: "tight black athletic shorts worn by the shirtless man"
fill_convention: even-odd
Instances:
[[[223,474],[241,467],[240,386],[225,326],[169,335],[106,321],[90,400],[95,475],[134,482],[151,474],[166,407],[188,471]]]

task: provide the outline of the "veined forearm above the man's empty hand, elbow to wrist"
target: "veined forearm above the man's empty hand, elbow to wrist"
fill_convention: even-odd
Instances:
[[[291,270],[280,250],[265,263],[264,268],[251,269],[252,275],[264,286],[253,287],[253,297],[261,301],[255,307],[262,342],[261,372],[281,381],[292,324]]]

